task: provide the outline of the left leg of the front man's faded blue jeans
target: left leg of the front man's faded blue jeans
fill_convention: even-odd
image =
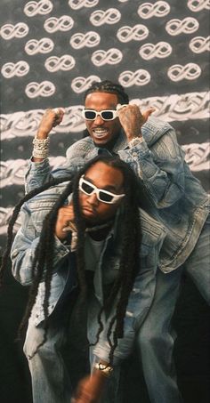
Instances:
[[[35,326],[31,319],[28,321],[23,350],[28,359],[33,403],[70,402],[72,387],[61,351],[67,342],[67,326],[76,301],[77,295],[73,293],[58,303],[49,317],[46,341],[38,349],[44,340],[43,322]]]

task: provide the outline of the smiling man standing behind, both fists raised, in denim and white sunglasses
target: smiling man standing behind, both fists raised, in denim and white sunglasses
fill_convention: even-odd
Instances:
[[[47,110],[34,140],[27,189],[39,186],[51,175],[75,171],[105,152],[117,154],[132,167],[148,194],[149,213],[168,230],[160,252],[155,299],[138,335],[144,378],[152,403],[180,403],[171,318],[183,269],[210,301],[209,199],[190,173],[173,127],[150,116],[152,111],[141,113],[137,105],[129,104],[121,85],[108,80],[94,83],[85,93],[82,112],[89,135],[70,146],[66,165],[51,173],[48,134],[53,125],[61,123],[64,111]]]

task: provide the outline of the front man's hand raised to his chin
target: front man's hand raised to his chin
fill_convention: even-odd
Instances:
[[[76,230],[75,224],[75,214],[73,206],[63,206],[59,209],[57,222],[55,224],[55,235],[60,240],[64,240],[68,236],[68,229]]]

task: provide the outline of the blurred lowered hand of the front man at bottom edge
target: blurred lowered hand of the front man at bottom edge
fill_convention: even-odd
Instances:
[[[98,403],[107,382],[106,376],[97,370],[92,376],[87,376],[77,386],[76,396],[71,403]]]

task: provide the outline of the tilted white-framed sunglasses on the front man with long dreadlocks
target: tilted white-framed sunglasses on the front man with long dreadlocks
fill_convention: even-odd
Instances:
[[[99,201],[108,203],[109,205],[113,205],[114,203],[117,203],[120,198],[125,197],[125,193],[122,195],[116,195],[108,190],[97,188],[90,181],[86,181],[84,176],[85,175],[81,176],[79,180],[79,190],[85,193],[85,195],[91,196],[95,193]]]

